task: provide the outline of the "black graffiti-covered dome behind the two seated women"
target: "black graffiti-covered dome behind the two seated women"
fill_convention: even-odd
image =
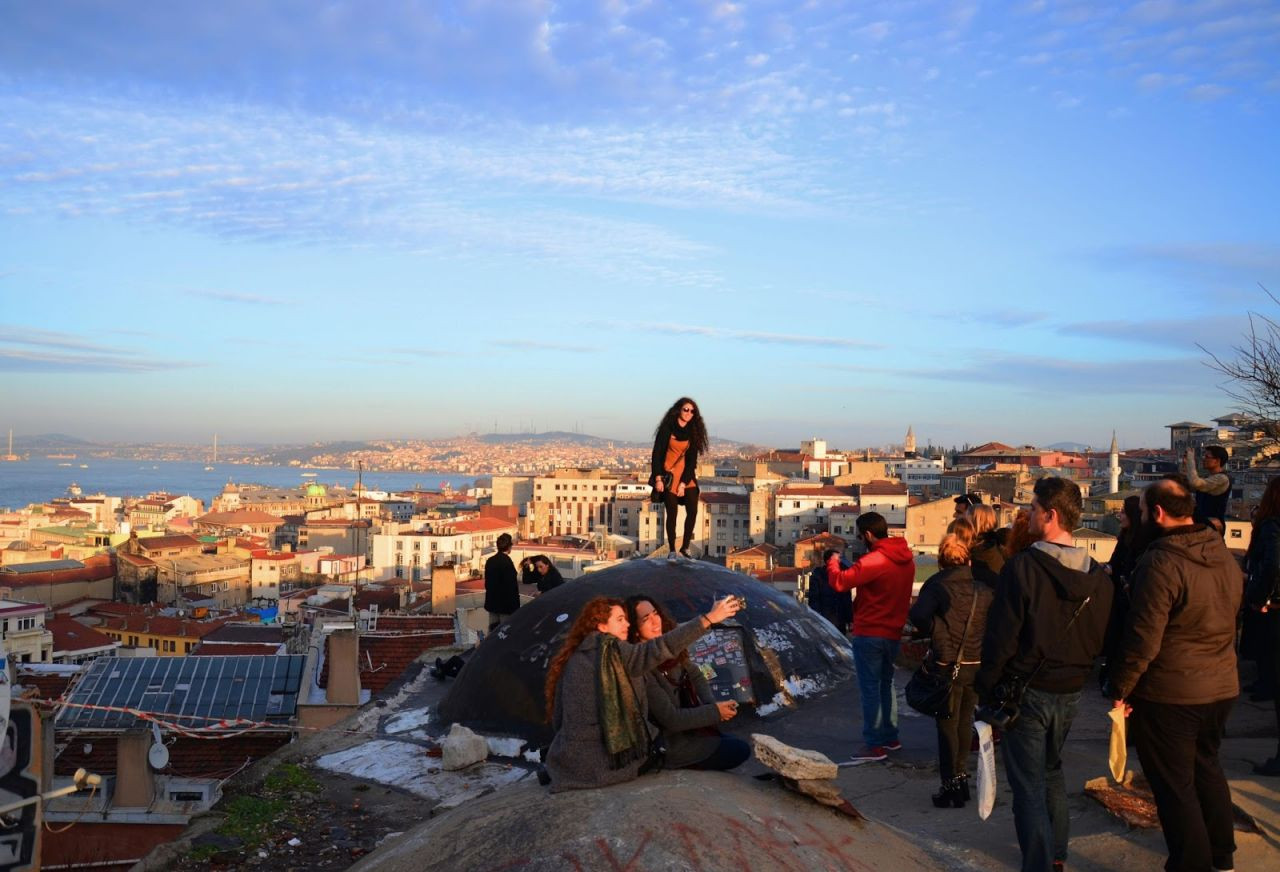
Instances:
[[[687,621],[728,594],[746,610],[713,627],[691,649],[713,671],[712,688],[764,715],[791,708],[797,697],[827,693],[854,675],[849,640],[794,597],[714,563],[632,560],[545,593],[521,606],[467,661],[442,700],[445,722],[520,736],[550,739],[543,720],[543,682],[573,617],[593,597],[646,594],[677,621]],[[742,716],[740,716],[742,717]]]

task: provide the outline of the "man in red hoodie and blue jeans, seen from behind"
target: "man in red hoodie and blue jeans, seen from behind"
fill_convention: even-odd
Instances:
[[[827,560],[827,583],[854,598],[854,668],[863,700],[863,741],[851,763],[882,761],[899,750],[897,694],[893,691],[893,661],[897,658],[906,610],[911,604],[915,558],[906,539],[890,537],[888,524],[878,512],[858,516],[858,535],[867,553],[852,567],[840,569],[840,554]]]

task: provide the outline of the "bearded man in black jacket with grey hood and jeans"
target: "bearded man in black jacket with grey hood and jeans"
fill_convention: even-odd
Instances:
[[[1066,862],[1070,835],[1062,743],[1106,639],[1114,586],[1102,566],[1073,545],[1082,508],[1075,483],[1044,476],[1034,494],[1029,529],[1037,542],[1000,572],[975,686],[980,703],[998,706],[997,688],[1027,681],[1020,715],[1002,743],[1005,771],[1023,872],[1050,872]]]

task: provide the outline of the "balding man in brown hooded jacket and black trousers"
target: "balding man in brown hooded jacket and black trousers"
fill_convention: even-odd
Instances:
[[[1194,511],[1185,481],[1156,481],[1143,493],[1143,521],[1155,526],[1156,539],[1134,569],[1110,671],[1116,706],[1132,713],[1171,871],[1230,869],[1235,853],[1219,745],[1240,693],[1235,615],[1242,577],[1217,531],[1193,522]]]

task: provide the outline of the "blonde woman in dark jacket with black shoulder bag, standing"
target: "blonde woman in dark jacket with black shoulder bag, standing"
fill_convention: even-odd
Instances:
[[[933,794],[933,804],[938,808],[964,808],[969,799],[969,734],[978,703],[973,680],[978,674],[982,634],[987,629],[987,612],[995,590],[974,579],[969,547],[955,533],[948,533],[938,545],[938,567],[920,588],[909,618],[916,638],[929,639],[925,662],[931,671],[950,674],[956,665],[960,666],[951,684],[947,717],[934,721],[942,789]]]

